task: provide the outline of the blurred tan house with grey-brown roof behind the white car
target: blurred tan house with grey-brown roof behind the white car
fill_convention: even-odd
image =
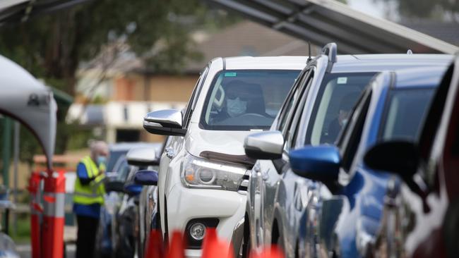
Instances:
[[[143,116],[158,109],[183,109],[199,72],[211,59],[308,54],[306,42],[249,21],[212,35],[196,33],[195,38],[196,50],[203,54],[203,59],[187,63],[179,75],[157,74],[129,50],[121,52],[107,69],[103,64],[81,69],[78,97],[68,111],[67,121],[78,121],[82,128],[93,130],[109,143],[160,142],[163,137],[143,130]],[[313,55],[318,50],[318,47],[311,47]],[[105,75],[102,80],[101,74]],[[85,104],[90,98],[100,104]]]

